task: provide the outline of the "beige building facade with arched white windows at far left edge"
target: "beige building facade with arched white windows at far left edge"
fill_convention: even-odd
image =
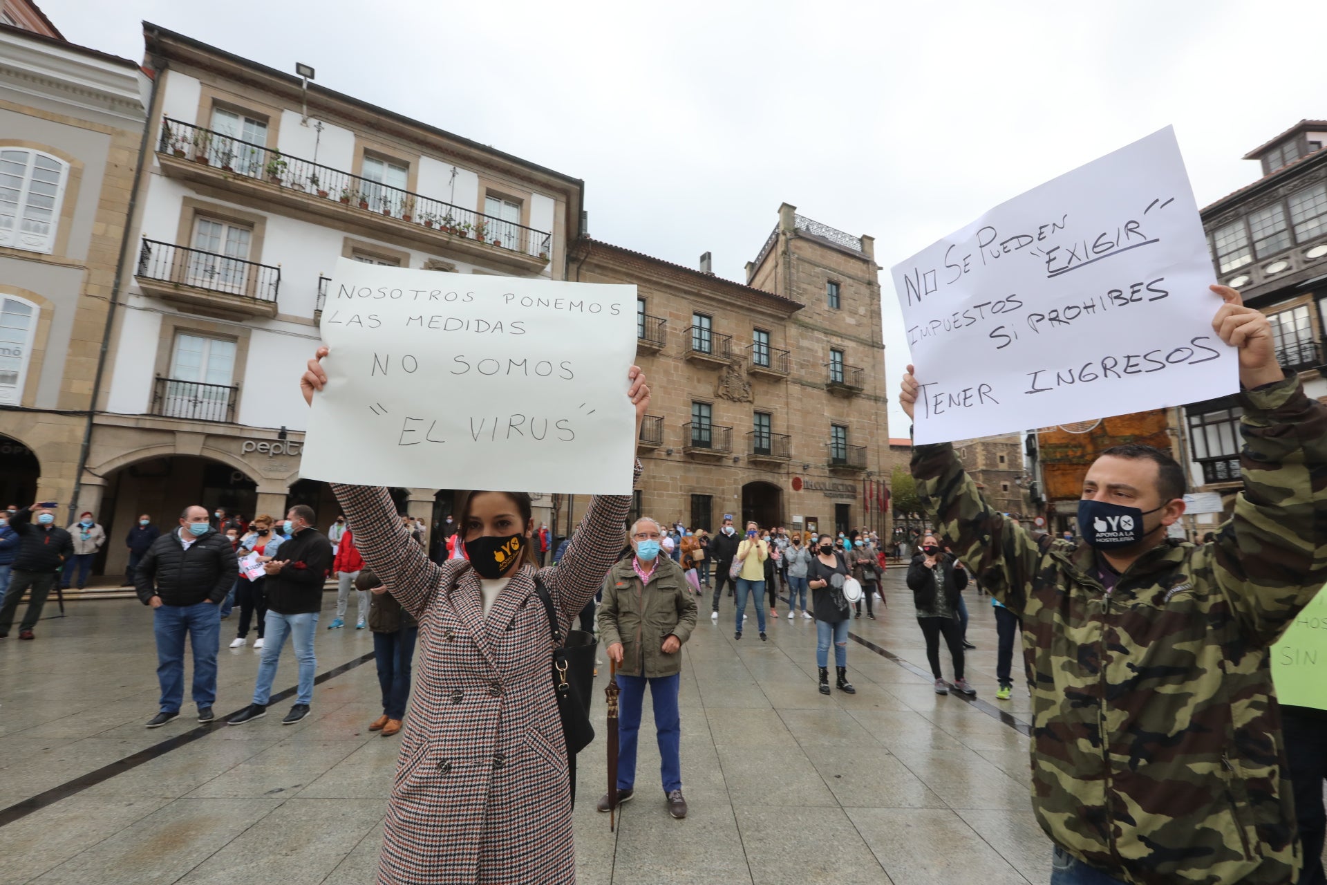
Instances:
[[[146,121],[137,62],[0,24],[0,499],[76,500]]]

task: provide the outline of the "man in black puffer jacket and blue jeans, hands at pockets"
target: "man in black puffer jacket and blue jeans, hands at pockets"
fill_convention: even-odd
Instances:
[[[184,634],[194,649],[194,703],[198,720],[211,722],[216,701],[216,647],[222,633],[220,602],[230,593],[239,561],[226,535],[207,521],[207,510],[186,507],[179,527],[162,535],[138,564],[134,588],[153,606],[157,634],[157,679],[161,711],[147,722],[157,728],[179,716],[184,701]]]

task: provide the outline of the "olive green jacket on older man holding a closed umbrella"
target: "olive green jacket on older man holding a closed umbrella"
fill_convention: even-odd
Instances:
[[[617,671],[629,677],[670,677],[682,670],[682,650],[664,654],[669,634],[685,644],[695,629],[695,596],[682,567],[660,553],[650,582],[644,584],[628,556],[604,580],[598,608],[598,641],[622,644]]]

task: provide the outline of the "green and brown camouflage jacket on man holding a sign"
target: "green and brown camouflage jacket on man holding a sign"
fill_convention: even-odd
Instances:
[[[1042,829],[1137,885],[1282,884],[1302,864],[1269,646],[1327,580],[1327,406],[1298,378],[1241,399],[1233,517],[1143,555],[1111,594],[1091,548],[1034,541],[950,444],[913,451],[945,540],[1023,618]]]

